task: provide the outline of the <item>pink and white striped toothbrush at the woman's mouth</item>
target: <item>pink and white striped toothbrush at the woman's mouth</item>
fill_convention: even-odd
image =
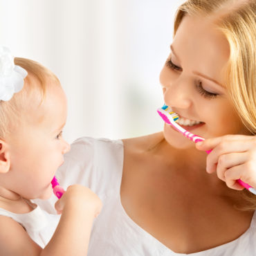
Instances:
[[[172,108],[168,107],[167,105],[164,104],[163,107],[157,109],[157,112],[158,112],[159,116],[161,116],[161,118],[163,118],[163,120],[168,125],[172,125],[172,127],[174,127],[177,131],[181,132],[181,134],[183,134],[183,136],[189,138],[194,143],[198,143],[199,141],[204,140],[204,138],[197,136],[195,134],[192,134],[190,131],[183,129],[183,127],[178,125],[176,123],[176,120],[179,119],[179,116],[174,111],[172,111]],[[206,152],[208,154],[210,154],[211,151],[212,150],[208,150]],[[246,188],[246,190],[249,190],[253,194],[256,194],[256,190],[253,187],[251,187],[250,185],[248,185],[247,183],[245,183],[244,181],[241,181],[241,179],[238,179],[237,182],[240,185],[242,185],[244,188]]]

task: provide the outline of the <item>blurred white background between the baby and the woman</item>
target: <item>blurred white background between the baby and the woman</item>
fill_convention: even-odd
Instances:
[[[0,0],[0,44],[48,67],[68,98],[64,136],[161,131],[158,76],[179,0]]]

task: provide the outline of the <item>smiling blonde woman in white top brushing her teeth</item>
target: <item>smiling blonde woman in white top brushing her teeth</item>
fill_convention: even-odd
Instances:
[[[255,11],[189,0],[177,12],[163,98],[202,145],[168,125],[71,145],[58,179],[103,202],[89,255],[255,255],[256,198],[236,182],[256,187]]]

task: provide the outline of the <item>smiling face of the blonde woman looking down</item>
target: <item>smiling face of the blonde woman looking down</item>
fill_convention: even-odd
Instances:
[[[248,133],[226,91],[228,57],[225,37],[202,18],[188,16],[181,21],[161,71],[165,104],[179,114],[182,127],[203,138]],[[166,124],[164,136],[174,147],[192,146]]]

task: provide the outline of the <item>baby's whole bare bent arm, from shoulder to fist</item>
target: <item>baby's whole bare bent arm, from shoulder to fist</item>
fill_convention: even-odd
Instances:
[[[88,188],[72,185],[55,208],[62,212],[62,217],[44,249],[30,239],[19,223],[9,217],[0,217],[0,256],[86,255],[93,219],[101,210],[100,199]]]

